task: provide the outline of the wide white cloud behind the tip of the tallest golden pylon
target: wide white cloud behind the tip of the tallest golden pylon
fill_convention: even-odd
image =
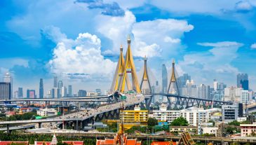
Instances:
[[[183,46],[180,43],[184,32],[194,29],[185,20],[149,20],[136,22],[135,16],[126,11],[123,17],[109,18],[100,15],[98,31],[113,42],[112,52],[119,54],[119,46],[126,44],[128,34],[132,34],[133,55],[137,57],[170,57],[177,55]],[[104,22],[105,25],[102,25]],[[109,53],[109,52],[108,52]]]

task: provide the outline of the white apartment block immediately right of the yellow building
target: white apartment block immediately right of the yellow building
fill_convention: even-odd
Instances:
[[[180,117],[180,110],[167,110],[167,106],[162,104],[159,110],[153,111],[153,117],[157,120],[171,123],[173,120]]]

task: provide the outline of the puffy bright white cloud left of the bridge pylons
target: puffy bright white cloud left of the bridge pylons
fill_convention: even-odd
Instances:
[[[74,40],[62,39],[53,50],[53,58],[48,62],[50,71],[89,80],[109,81],[116,63],[104,59],[100,46],[100,39],[89,33],[79,34]]]

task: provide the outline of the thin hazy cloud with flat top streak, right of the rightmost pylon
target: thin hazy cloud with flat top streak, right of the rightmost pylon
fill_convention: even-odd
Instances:
[[[217,43],[198,43],[201,46],[213,47],[203,53],[184,55],[178,65],[193,76],[198,83],[211,83],[214,78],[220,81],[234,80],[239,72],[231,62],[237,57],[237,50],[242,43],[224,41]],[[233,82],[227,82],[229,84]]]

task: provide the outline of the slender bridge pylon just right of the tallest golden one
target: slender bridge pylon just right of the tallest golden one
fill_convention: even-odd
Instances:
[[[149,85],[149,90],[147,89],[142,89],[142,85],[143,83],[147,83],[147,85]],[[142,94],[144,95],[151,95],[152,93],[152,89],[151,89],[151,85],[150,85],[150,81],[149,81],[149,75],[147,73],[147,57],[144,57],[144,72],[143,72],[143,76],[142,76],[142,81],[140,83],[140,90],[142,91]]]

